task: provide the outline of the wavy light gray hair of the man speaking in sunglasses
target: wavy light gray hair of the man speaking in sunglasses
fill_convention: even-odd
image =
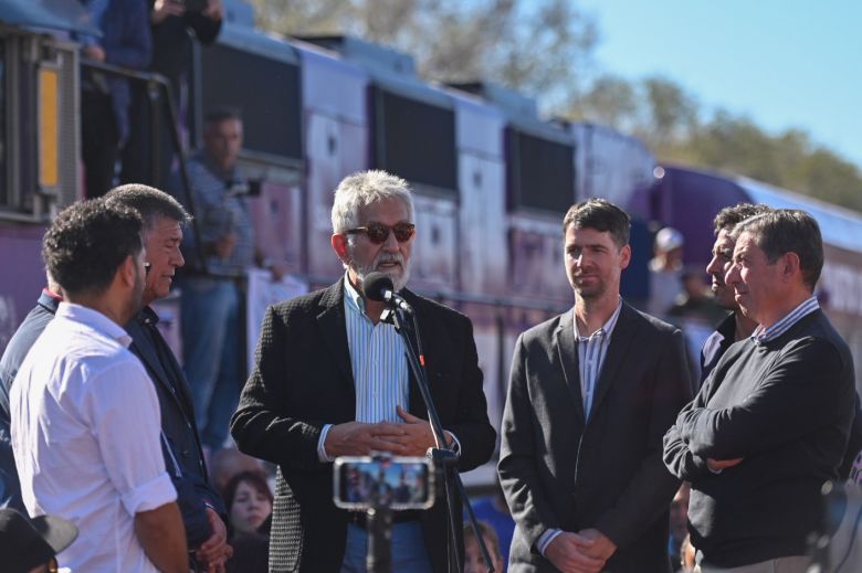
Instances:
[[[344,233],[359,226],[359,210],[380,201],[398,199],[413,222],[413,195],[400,177],[382,170],[360,171],[338,183],[333,202],[333,233]]]

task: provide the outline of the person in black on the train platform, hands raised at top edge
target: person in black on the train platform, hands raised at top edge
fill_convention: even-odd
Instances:
[[[174,105],[180,115],[182,94],[190,87],[189,63],[192,61],[192,43],[209,45],[216,41],[221,30],[224,9],[221,0],[202,2],[202,9],[187,8],[182,0],[148,0],[150,30],[153,33],[153,60],[148,70],[164,76],[171,88]],[[147,86],[133,85],[133,105],[130,110],[129,140],[123,152],[123,182],[148,181],[157,187],[167,184],[176,149],[170,135],[167,103],[160,102],[158,117],[161,127],[153,129],[151,103],[147,97]],[[188,99],[186,97],[185,99]],[[179,127],[179,126],[176,126]],[[153,138],[158,137],[158,153],[153,153]],[[151,165],[158,163],[158,179],[151,180]]]

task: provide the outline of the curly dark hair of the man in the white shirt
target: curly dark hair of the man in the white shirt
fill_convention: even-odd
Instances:
[[[143,248],[140,215],[133,209],[91,199],[74,203],[54,219],[42,240],[42,259],[69,294],[98,294],[117,269]]]

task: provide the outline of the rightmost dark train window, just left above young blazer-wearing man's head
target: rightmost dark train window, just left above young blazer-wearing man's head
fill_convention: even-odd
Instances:
[[[509,209],[565,213],[575,202],[575,148],[512,128],[506,142]]]

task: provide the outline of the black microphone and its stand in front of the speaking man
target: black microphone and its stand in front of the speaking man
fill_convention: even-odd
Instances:
[[[461,496],[461,499],[464,500],[467,509],[467,516],[470,517],[470,524],[473,528],[473,531],[476,534],[476,541],[479,542],[479,549],[482,552],[482,559],[485,561],[485,564],[487,565],[487,572],[494,573],[494,565],[491,564],[491,554],[487,551],[487,547],[485,547],[485,539],[482,537],[482,531],[479,529],[479,522],[476,521],[476,516],[473,512],[473,506],[470,503],[470,499],[466,497],[466,491],[464,490],[464,482],[461,480],[461,475],[458,473],[458,468],[455,467],[458,464],[458,455],[455,455],[454,452],[452,452],[449,447],[449,442],[446,441],[445,432],[443,431],[443,425],[440,423],[440,416],[437,413],[437,407],[434,406],[434,401],[431,400],[431,391],[428,388],[428,379],[425,378],[424,372],[424,356],[421,356],[421,340],[419,338],[419,327],[416,322],[416,316],[413,316],[413,326],[416,329],[416,337],[417,337],[417,346],[419,347],[419,354],[420,358],[417,356],[417,351],[413,349],[413,346],[410,340],[410,335],[407,332],[407,329],[404,328],[404,311],[396,305],[395,301],[387,301],[387,305],[389,305],[386,310],[383,310],[383,314],[380,316],[380,320],[383,322],[391,322],[395,326],[396,332],[398,332],[401,336],[401,339],[404,341],[404,348],[406,348],[406,354],[407,354],[407,362],[410,364],[410,370],[413,372],[413,378],[416,379],[417,386],[419,386],[419,392],[422,394],[422,400],[425,403],[425,408],[428,410],[428,421],[431,424],[431,431],[434,434],[434,442],[437,443],[438,447],[428,448],[428,455],[433,459],[434,461],[440,461],[442,470],[443,470],[443,487],[445,489],[445,499],[446,499],[446,510],[449,513],[449,527],[451,529],[452,535],[450,537],[450,541],[452,542],[452,551],[446,551],[446,562],[451,565],[451,558],[454,554],[455,556],[455,571],[461,571],[461,559],[458,555],[458,534],[455,530],[455,523],[454,523],[454,516],[458,508],[454,508],[454,498],[450,494],[449,489],[449,482],[450,480],[454,481],[455,486],[458,487],[458,492]],[[443,446],[443,447],[440,447]],[[461,524],[458,524],[461,527]],[[451,567],[450,567],[451,571]]]

